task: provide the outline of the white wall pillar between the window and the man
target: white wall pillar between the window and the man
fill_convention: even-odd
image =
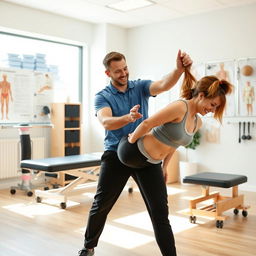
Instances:
[[[127,31],[109,24],[99,24],[94,29],[94,41],[91,48],[90,95],[90,142],[88,151],[103,151],[104,129],[95,117],[94,96],[103,89],[109,79],[105,75],[102,60],[107,52],[119,51],[126,54]]]

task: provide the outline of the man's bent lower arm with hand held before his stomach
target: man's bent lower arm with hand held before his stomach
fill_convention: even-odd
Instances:
[[[97,117],[106,130],[117,130],[140,119],[142,115],[138,112],[139,108],[140,105],[135,105],[130,113],[116,117],[110,107],[104,107],[97,112]]]

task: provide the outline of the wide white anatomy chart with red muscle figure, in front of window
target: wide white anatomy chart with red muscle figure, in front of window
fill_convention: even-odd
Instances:
[[[50,73],[0,68],[0,125],[48,124],[53,102]]]

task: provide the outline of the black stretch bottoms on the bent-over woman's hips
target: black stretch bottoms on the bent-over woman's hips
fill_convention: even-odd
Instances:
[[[147,161],[147,158],[140,152],[137,142],[131,144],[128,136],[124,136],[117,148],[119,160],[131,168],[144,168],[153,165]]]

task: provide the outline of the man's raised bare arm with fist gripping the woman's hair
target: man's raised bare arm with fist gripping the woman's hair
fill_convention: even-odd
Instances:
[[[173,72],[169,73],[162,80],[155,81],[150,85],[149,90],[152,96],[170,90],[178,82],[185,68],[192,65],[192,60],[188,54],[182,53],[181,50],[179,50],[176,63],[177,67]]]

